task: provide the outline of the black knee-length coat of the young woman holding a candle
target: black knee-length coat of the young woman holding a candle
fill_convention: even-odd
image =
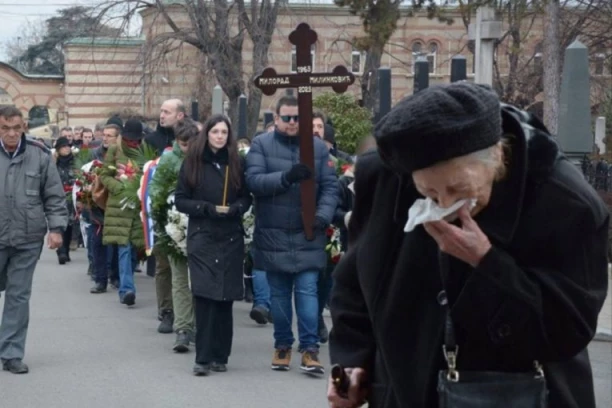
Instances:
[[[177,210],[189,215],[187,254],[191,290],[194,296],[218,301],[240,300],[244,296],[242,263],[244,260],[244,228],[242,215],[251,206],[244,175],[241,188],[228,185],[228,205],[240,205],[235,217],[211,218],[204,212],[204,203],[222,205],[227,150],[218,154],[208,150],[199,185],[187,183],[185,163],[181,166],[175,192]],[[241,166],[241,174],[244,166]]]

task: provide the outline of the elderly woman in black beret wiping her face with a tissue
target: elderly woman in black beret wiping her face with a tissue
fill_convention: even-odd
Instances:
[[[609,214],[544,126],[457,83],[403,100],[375,136],[335,272],[331,358],[350,387],[330,382],[331,406],[594,408]],[[460,209],[406,228],[419,199]]]

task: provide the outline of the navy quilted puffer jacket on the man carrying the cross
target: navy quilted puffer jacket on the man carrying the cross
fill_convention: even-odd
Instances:
[[[316,216],[331,224],[338,203],[337,178],[325,143],[314,137]],[[299,273],[327,266],[325,231],[308,241],[302,224],[300,185],[284,172],[300,161],[299,139],[276,131],[258,136],[247,155],[246,182],[255,196],[255,233],[251,254],[256,269]]]

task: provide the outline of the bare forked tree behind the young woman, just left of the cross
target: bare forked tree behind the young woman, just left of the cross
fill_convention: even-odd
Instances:
[[[184,0],[170,3],[163,0],[110,0],[99,8],[100,14],[122,18],[147,10],[160,27],[149,27],[147,33],[147,65],[166,59],[171,53],[189,46],[205,57],[218,84],[229,99],[229,116],[238,119],[238,101],[248,95],[249,134],[257,127],[261,92],[253,85],[254,77],[268,64],[268,50],[276,26],[278,10],[284,1],[273,0]],[[252,43],[252,65],[245,69],[245,40]],[[204,79],[200,71],[199,79]]]

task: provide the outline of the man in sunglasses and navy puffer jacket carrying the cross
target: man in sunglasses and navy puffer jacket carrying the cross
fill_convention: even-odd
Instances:
[[[272,369],[286,371],[290,366],[295,290],[301,369],[322,374],[317,282],[327,263],[325,230],[336,210],[338,187],[333,163],[330,165],[325,143],[319,138],[313,138],[315,168],[299,162],[298,121],[297,100],[281,98],[275,130],[253,140],[247,155],[246,182],[256,199],[251,253],[254,273],[265,271],[270,285],[275,338]],[[311,177],[316,184],[317,210],[315,238],[309,241],[302,224],[300,182]]]

